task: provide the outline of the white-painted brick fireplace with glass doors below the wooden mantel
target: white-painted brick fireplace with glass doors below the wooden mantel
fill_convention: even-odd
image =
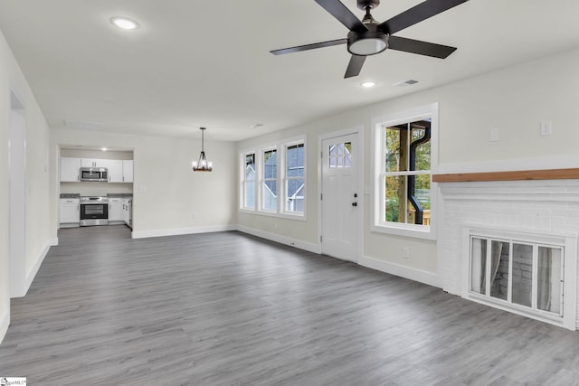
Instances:
[[[575,330],[579,321],[576,285],[579,180],[445,182],[434,178],[434,181],[442,183],[438,184],[441,214],[437,246],[442,289]],[[473,242],[477,244],[474,247]],[[492,253],[497,255],[489,250],[491,247],[502,246],[496,263],[488,263],[487,276],[484,267],[477,268],[479,263],[472,261],[473,249],[479,249],[481,242],[489,246],[483,249],[482,255],[487,253],[489,257]],[[558,276],[561,278],[560,310],[555,305],[559,296],[557,287],[549,292],[555,305],[551,311],[560,315],[543,310],[542,280],[537,279],[540,273],[533,274],[541,271],[546,252],[553,256],[554,268],[549,268],[553,285],[559,281]],[[475,259],[479,261],[480,255],[475,253],[478,256]],[[473,267],[479,271],[473,272]],[[506,272],[510,276],[507,277]],[[473,278],[490,276],[496,283],[493,285],[490,278],[486,279],[489,291],[484,296],[485,283],[473,284]],[[505,287],[501,289],[501,286]],[[521,291],[529,295],[520,297]]]

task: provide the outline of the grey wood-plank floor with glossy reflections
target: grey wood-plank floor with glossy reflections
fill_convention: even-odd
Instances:
[[[66,229],[12,302],[29,385],[573,385],[579,333],[238,232]],[[384,248],[387,246],[384,245]]]

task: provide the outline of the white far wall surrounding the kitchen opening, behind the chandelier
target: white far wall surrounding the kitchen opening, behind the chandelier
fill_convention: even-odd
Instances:
[[[199,157],[201,138],[191,140],[52,129],[51,164],[56,167],[60,145],[116,146],[133,149],[133,237],[162,236],[233,229],[237,223],[235,145],[205,141],[205,153],[214,162],[211,173],[194,173],[191,161]],[[62,150],[65,153],[65,150]],[[67,153],[68,154],[68,153]],[[107,188],[108,189],[108,188]],[[75,192],[74,184],[65,185]],[[58,175],[52,175],[52,204],[58,200]],[[56,211],[52,212],[56,232]]]

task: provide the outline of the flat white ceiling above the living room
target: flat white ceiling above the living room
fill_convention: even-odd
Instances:
[[[373,14],[418,3],[382,0]],[[140,28],[119,30],[116,15]],[[348,80],[345,45],[270,53],[346,37],[313,0],[3,0],[0,30],[51,127],[199,137],[205,126],[207,139],[240,140],[572,49],[578,15],[577,0],[470,0],[396,33],[458,47],[448,59],[386,51]]]

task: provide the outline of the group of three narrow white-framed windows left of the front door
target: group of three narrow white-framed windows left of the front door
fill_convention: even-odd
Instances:
[[[240,154],[240,209],[305,218],[306,145],[303,137]]]

